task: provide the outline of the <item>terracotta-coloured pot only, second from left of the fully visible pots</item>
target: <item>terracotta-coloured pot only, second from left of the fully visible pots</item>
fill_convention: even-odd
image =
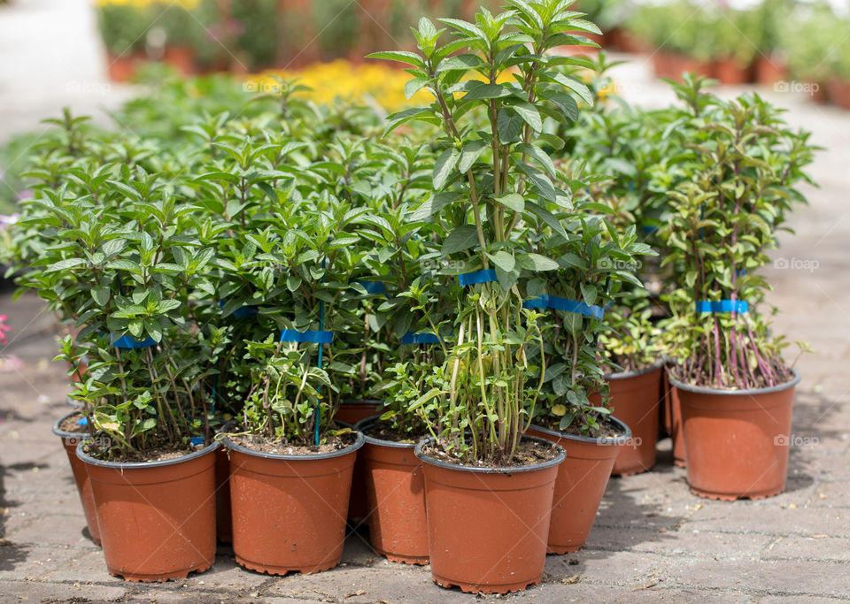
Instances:
[[[230,449],[236,562],[271,575],[320,572],[339,564],[363,435],[358,433],[351,447],[317,455],[274,455],[224,442]]]

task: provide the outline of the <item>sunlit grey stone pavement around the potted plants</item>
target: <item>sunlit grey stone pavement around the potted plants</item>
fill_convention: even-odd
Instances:
[[[30,19],[41,20],[32,29],[34,20],[17,13],[14,19],[23,20],[9,21],[0,8],[0,139],[62,104],[86,111],[117,102],[115,90],[95,87],[103,81],[102,65],[92,67],[101,60],[97,51],[85,43],[56,42],[56,7],[85,2],[20,4],[32,11]],[[38,12],[44,6],[54,11]],[[89,31],[90,39],[88,18],[68,10],[66,19],[78,20],[66,23],[81,27],[80,39]],[[16,88],[15,82],[32,79],[33,72],[19,69],[16,75],[6,59],[22,57],[10,36],[20,41],[27,23],[34,35],[53,41],[48,55],[30,57],[53,69],[44,72],[45,78],[51,73],[53,88],[43,82]],[[27,43],[29,50],[41,52],[42,46]],[[72,51],[77,58],[55,62]],[[631,58],[614,73],[622,95],[636,103],[668,103],[669,91],[653,82],[646,61]],[[74,96],[69,81],[88,82],[78,87],[88,94]],[[5,359],[0,367],[0,601],[850,600],[850,305],[844,302],[850,291],[845,203],[850,113],[809,103],[804,95],[762,92],[788,107],[788,119],[812,130],[813,140],[830,149],[811,170],[821,188],[810,189],[811,205],[792,217],[797,235],[780,238],[777,263],[767,271],[775,284],[770,302],[781,309],[777,333],[808,340],[816,351],[798,365],[803,381],[785,493],[735,503],[699,499],[688,492],[684,470],[670,463],[664,440],[653,472],[610,481],[587,547],[549,556],[544,582],[520,594],[479,599],[441,589],[428,567],[384,561],[359,532],[347,539],[343,564],[318,575],[268,577],[242,570],[232,551],[221,547],[215,566],[203,574],[161,585],[126,584],[106,573],[102,553],[86,536],[65,453],[50,434],[50,425],[67,410],[64,368],[50,363],[57,326],[34,296],[11,302],[2,294],[0,314],[10,316],[14,331],[10,344],[0,347]]]

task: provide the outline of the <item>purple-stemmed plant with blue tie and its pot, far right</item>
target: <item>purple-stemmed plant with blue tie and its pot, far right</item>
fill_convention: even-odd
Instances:
[[[663,329],[673,342],[692,491],[757,499],[784,489],[800,376],[755,311],[768,287],[755,271],[792,203],[805,201],[794,186],[808,180],[802,168],[813,148],[757,96],[708,96],[705,110],[693,179],[670,191],[665,262],[682,271],[671,296],[682,310]]]

